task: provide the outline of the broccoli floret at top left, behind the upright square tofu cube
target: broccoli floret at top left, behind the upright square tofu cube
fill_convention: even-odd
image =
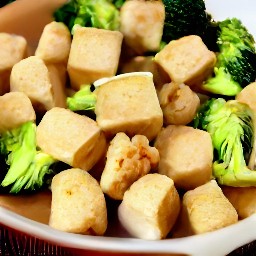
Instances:
[[[58,8],[55,21],[66,24],[73,34],[74,26],[118,30],[120,26],[118,3],[108,0],[70,0]]]

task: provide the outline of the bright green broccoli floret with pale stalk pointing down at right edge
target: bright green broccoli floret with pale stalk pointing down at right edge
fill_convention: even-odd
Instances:
[[[214,148],[213,176],[227,186],[256,186],[248,167],[254,144],[254,114],[236,100],[210,99],[198,111],[194,127],[210,133]]]

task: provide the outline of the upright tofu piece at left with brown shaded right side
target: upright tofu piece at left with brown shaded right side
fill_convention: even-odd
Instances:
[[[57,104],[60,97],[63,97],[62,102],[65,102],[64,85],[56,83],[58,76],[58,69],[49,70],[41,58],[30,56],[13,66],[10,90],[24,92],[30,98],[36,112],[44,113],[53,107],[63,107],[63,104]],[[57,94],[58,90],[61,93]]]

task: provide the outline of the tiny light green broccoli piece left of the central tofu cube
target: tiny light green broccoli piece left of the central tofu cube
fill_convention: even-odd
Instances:
[[[67,98],[67,106],[72,111],[94,110],[96,94],[91,91],[90,85],[82,85],[72,97]]]

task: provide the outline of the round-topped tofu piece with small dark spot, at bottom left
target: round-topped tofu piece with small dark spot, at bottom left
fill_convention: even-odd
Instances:
[[[99,183],[86,171],[71,168],[56,174],[51,183],[49,225],[78,234],[103,235],[107,208]]]

